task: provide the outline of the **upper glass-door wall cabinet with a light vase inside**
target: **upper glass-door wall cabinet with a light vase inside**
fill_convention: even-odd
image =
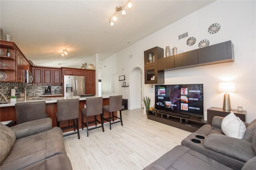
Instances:
[[[144,67],[157,65],[157,61],[164,58],[164,49],[154,47],[144,51]]]

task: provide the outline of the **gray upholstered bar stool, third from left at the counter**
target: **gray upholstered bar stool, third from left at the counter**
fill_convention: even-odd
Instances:
[[[86,99],[86,108],[81,109],[82,114],[82,130],[84,130],[84,125],[87,128],[87,137],[89,137],[89,131],[92,129],[97,129],[102,127],[104,132],[103,119],[102,119],[102,97],[97,98],[87,98]],[[96,115],[100,114],[100,121],[96,118]],[[84,123],[84,115],[86,116],[86,124]],[[88,121],[89,116],[94,116],[95,121]],[[101,123],[101,126],[97,127],[97,122]],[[95,127],[89,129],[89,124],[95,123]]]

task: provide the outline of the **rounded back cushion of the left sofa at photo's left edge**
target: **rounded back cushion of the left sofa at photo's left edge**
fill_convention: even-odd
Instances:
[[[1,164],[4,159],[8,156],[10,150],[12,149],[15,141],[16,136],[14,131],[10,127],[0,123],[0,146],[1,146]]]

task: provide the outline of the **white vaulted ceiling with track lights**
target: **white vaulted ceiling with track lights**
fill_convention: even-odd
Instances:
[[[80,68],[92,55],[102,60],[213,1],[132,0],[111,27],[109,17],[125,2],[1,0],[0,27],[34,64]]]

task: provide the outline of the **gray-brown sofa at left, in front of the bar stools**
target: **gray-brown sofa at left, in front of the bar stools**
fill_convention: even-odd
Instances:
[[[52,119],[22,123],[11,128],[0,123],[1,170],[72,170],[63,133]]]

